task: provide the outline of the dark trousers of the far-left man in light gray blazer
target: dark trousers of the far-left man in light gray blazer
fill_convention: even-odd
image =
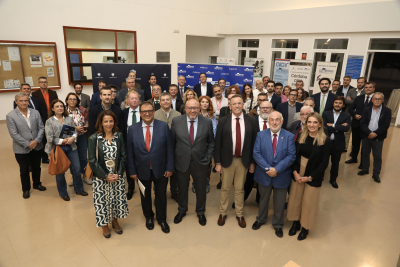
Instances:
[[[29,175],[29,166],[32,168],[32,182],[33,186],[41,185],[40,182],[40,161],[42,159],[42,150],[32,150],[28,154],[15,154],[15,159],[19,164],[19,172],[21,176],[22,191],[31,190],[31,179]]]

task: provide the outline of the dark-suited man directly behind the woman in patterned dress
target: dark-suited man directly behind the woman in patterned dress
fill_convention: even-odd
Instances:
[[[89,111],[89,135],[96,132],[97,117],[103,110],[111,110],[118,120],[118,129],[122,132],[122,112],[121,108],[111,104],[111,88],[106,86],[100,90],[101,102],[94,107],[90,108]]]

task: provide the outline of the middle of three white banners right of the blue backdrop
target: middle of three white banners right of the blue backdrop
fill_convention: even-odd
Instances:
[[[296,88],[297,80],[302,80],[304,82],[303,89],[308,91],[311,82],[311,70],[312,61],[292,59],[289,66],[288,85]]]

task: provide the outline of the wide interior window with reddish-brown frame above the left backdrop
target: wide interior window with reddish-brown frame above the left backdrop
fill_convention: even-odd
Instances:
[[[64,26],[69,82],[91,84],[92,63],[137,63],[136,32]]]

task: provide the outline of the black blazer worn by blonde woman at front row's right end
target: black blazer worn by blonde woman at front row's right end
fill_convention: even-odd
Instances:
[[[301,147],[306,145],[306,144],[300,144],[299,139],[300,138],[297,138],[296,141],[296,160],[293,162],[292,172],[300,171],[300,161],[301,161],[300,151]],[[329,137],[326,137],[325,143],[322,146],[318,146],[318,144],[312,146],[312,152],[310,158],[308,159],[306,170],[304,172],[304,176],[312,177],[312,181],[307,182],[308,185],[313,187],[321,187],[322,181],[324,180],[325,170],[329,164],[329,157],[331,154],[330,145],[331,144]],[[295,180],[293,175],[292,179]]]

